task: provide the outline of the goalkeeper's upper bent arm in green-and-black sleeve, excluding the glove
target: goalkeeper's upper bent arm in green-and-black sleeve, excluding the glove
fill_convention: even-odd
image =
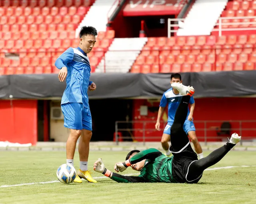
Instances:
[[[124,167],[127,168],[130,167],[132,164],[136,164],[137,162],[140,162],[144,159],[155,159],[161,154],[162,153],[155,148],[146,149],[137,153],[131,159],[128,159],[125,162],[123,162],[123,165]]]

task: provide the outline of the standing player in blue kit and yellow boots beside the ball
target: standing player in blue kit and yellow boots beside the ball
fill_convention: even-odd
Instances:
[[[80,157],[80,169],[74,182],[82,183],[81,178],[89,182],[97,182],[92,179],[88,171],[89,143],[92,137],[92,116],[88,103],[87,90],[96,89],[96,84],[90,81],[90,61],[87,56],[96,43],[97,30],[91,26],[84,26],[80,30],[80,42],[78,47],[68,48],[55,62],[60,69],[58,79],[63,82],[66,79],[61,109],[64,115],[64,127],[70,129],[66,143],[66,162],[74,166],[74,153],[78,138],[78,152]]]

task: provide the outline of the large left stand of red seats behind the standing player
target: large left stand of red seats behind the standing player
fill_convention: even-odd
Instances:
[[[77,47],[75,31],[93,1],[5,0],[0,5],[0,74],[56,73],[54,63],[68,47]],[[94,71],[114,38],[99,32],[89,54]],[[11,53],[15,59],[6,57]]]

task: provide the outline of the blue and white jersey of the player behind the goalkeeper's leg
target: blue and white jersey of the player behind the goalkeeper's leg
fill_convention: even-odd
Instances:
[[[160,106],[161,107],[166,107],[166,105],[168,104],[168,123],[173,123],[174,121],[174,116],[176,113],[176,110],[180,104],[182,95],[180,94],[174,94],[172,88],[168,89],[166,92],[164,92],[162,99],[160,101]],[[194,98],[193,96],[190,98],[189,103],[193,104]],[[188,115],[189,115],[190,111],[188,109]],[[187,115],[187,118],[188,118]],[[186,119],[187,119],[186,118]]]

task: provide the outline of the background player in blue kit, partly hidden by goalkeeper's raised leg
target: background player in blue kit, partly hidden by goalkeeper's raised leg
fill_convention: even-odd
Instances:
[[[182,83],[181,75],[178,73],[171,75],[170,83],[172,84],[175,82]],[[164,128],[164,133],[163,133],[162,139],[161,139],[162,147],[166,151],[166,156],[170,156],[170,154],[171,154],[170,150],[169,150],[168,141],[170,141],[171,126],[173,124],[174,116],[175,116],[176,110],[180,104],[181,99],[182,99],[182,95],[179,94],[178,90],[176,90],[175,88],[170,88],[166,92],[164,92],[162,99],[160,101],[160,107],[158,110],[158,116],[157,116],[155,128],[158,131],[160,131],[160,119],[164,112],[164,108],[168,104],[168,123],[167,123],[166,127]],[[203,158],[202,147],[196,138],[196,128],[193,123],[193,112],[194,112],[194,108],[195,108],[195,101],[194,101],[193,96],[190,98],[189,103],[191,104],[190,111],[188,109],[188,115],[187,115],[186,121],[184,123],[183,129],[188,134],[189,138],[191,139],[192,143],[194,144],[196,153],[198,154],[199,158],[201,159],[201,158]]]

